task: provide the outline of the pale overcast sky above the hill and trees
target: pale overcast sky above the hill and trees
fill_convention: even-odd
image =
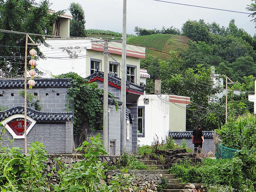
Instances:
[[[169,2],[199,5],[219,9],[247,12],[251,0],[166,0]],[[55,11],[68,9],[71,2],[82,5],[85,11],[86,28],[122,31],[122,0],[50,0]],[[69,13],[69,11],[67,11]],[[127,0],[127,33],[134,33],[134,27],[162,28],[174,26],[181,28],[186,20],[204,19],[216,21],[221,26],[228,26],[235,19],[238,28],[254,35],[255,25],[246,14],[210,10],[184,5],[169,4],[152,0]]]

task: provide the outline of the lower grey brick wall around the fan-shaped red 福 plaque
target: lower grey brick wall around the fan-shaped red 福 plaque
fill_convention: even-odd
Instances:
[[[65,154],[72,153],[72,137],[73,122],[62,123],[36,123],[27,135],[28,148],[29,143],[35,141],[43,142],[45,149],[49,154]],[[2,135],[3,139],[12,140],[12,135],[5,130]],[[15,139],[11,144],[7,140],[1,141],[2,146],[20,147],[24,149],[24,139]]]

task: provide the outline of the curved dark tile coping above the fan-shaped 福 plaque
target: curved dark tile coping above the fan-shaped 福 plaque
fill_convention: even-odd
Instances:
[[[0,112],[0,121],[15,114],[24,114],[24,106],[17,106]],[[27,116],[36,121],[68,121],[73,119],[73,112],[42,112],[27,107]]]

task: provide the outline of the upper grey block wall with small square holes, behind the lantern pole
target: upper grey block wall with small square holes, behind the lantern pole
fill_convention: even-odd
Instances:
[[[1,88],[0,93],[3,91],[3,96],[0,97],[0,105],[8,108],[12,108],[18,105],[24,106],[24,98],[19,96],[22,89],[20,88]],[[67,88],[65,87],[34,87],[32,89],[27,89],[28,93],[37,93],[36,99],[40,99],[40,105],[42,106],[41,111],[45,112],[63,112],[68,110],[68,100],[67,100]],[[54,91],[52,91],[54,90]],[[11,94],[13,93],[13,96]],[[46,96],[48,93],[48,96]],[[59,93],[59,95],[57,95]]]

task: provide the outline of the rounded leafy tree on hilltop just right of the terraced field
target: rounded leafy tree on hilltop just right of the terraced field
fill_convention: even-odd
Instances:
[[[182,26],[182,35],[188,36],[193,41],[210,41],[210,32],[204,20],[186,21]]]

